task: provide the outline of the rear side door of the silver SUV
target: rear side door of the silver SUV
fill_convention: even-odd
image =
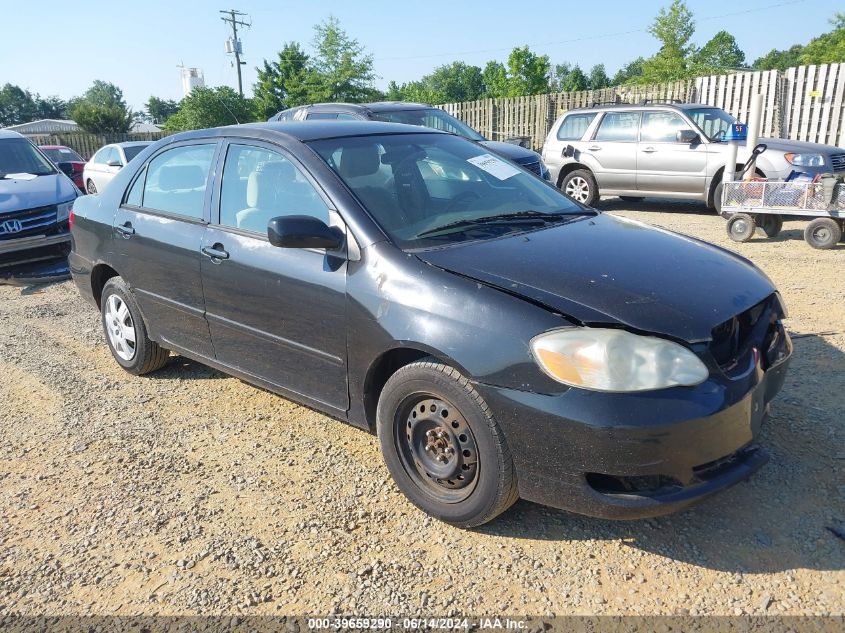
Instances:
[[[581,149],[602,191],[633,191],[637,187],[638,111],[605,112],[593,138]]]

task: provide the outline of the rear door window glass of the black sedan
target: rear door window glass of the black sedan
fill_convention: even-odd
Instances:
[[[144,208],[203,219],[214,148],[212,144],[183,145],[153,158],[147,166]]]

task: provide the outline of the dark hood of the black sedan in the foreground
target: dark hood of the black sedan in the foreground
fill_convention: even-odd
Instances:
[[[775,292],[719,247],[610,215],[418,252],[429,264],[541,303],[584,324],[695,343]]]

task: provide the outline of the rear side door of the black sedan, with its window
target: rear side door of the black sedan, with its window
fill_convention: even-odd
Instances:
[[[213,358],[200,249],[219,143],[170,147],[139,170],[114,217],[115,267],[132,288],[153,339]]]

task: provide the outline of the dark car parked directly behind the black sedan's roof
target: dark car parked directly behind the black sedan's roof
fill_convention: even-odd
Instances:
[[[423,103],[384,101],[380,103],[315,103],[282,110],[270,121],[385,121],[421,125],[481,143],[499,156],[549,179],[549,170],[540,155],[515,143],[488,141],[463,121],[440,108]]]

